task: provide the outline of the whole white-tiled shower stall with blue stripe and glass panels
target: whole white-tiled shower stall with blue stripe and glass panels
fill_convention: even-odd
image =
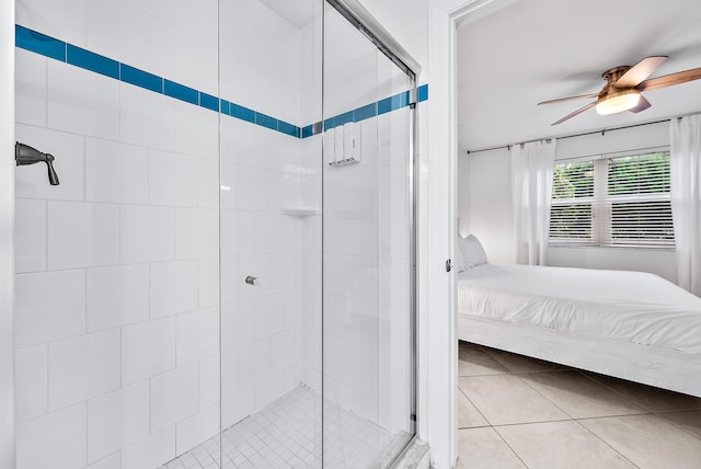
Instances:
[[[392,466],[416,62],[356,0],[15,11],[16,468]]]

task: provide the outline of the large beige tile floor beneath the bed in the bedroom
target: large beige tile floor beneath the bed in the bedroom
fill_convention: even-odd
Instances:
[[[460,342],[458,468],[701,468],[701,399]]]

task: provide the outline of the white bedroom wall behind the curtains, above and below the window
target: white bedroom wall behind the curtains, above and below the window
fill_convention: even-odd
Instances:
[[[668,123],[652,124],[558,141],[556,159],[586,157],[669,145]],[[510,205],[510,153],[506,149],[462,153],[459,159],[459,213],[467,213],[467,230],[483,243],[491,262],[515,262]],[[551,247],[549,265],[631,270],[676,281],[671,249]]]

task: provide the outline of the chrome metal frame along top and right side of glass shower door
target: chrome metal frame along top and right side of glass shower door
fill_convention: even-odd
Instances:
[[[402,47],[402,45],[372,16],[357,0],[324,0],[353,26],[360,31],[387,58],[389,58],[400,70],[402,70],[410,80],[409,96],[409,155],[407,155],[407,187],[409,194],[409,261],[410,261],[410,284],[409,284],[409,311],[410,311],[410,419],[412,422],[412,438],[406,446],[397,455],[394,462],[401,458],[406,449],[416,439],[418,425],[418,87],[417,80],[421,75],[421,65],[412,57],[412,55]],[[322,60],[323,62],[323,60]],[[322,65],[323,69],[323,65]],[[323,71],[322,71],[323,75]],[[323,102],[323,80],[322,80],[322,102]],[[322,105],[322,123],[325,122],[325,115]],[[323,184],[323,183],[322,183]],[[323,217],[323,210],[322,210]],[[323,239],[323,233],[322,233]],[[322,241],[323,242],[323,241]],[[322,310],[323,324],[323,310]],[[322,339],[323,344],[323,339]],[[323,345],[322,345],[323,346]],[[322,354],[323,370],[323,354]],[[323,394],[323,381],[322,381]],[[323,432],[323,431],[322,431]],[[323,444],[322,444],[323,445]],[[323,447],[322,447],[323,453]],[[393,465],[392,465],[393,466]]]

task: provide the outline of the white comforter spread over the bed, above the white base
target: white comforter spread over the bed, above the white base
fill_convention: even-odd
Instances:
[[[653,274],[484,264],[458,274],[463,314],[701,353],[701,298]]]

